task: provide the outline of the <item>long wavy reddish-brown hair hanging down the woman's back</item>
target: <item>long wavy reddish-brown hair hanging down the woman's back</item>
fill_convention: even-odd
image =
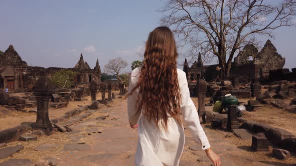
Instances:
[[[148,119],[168,128],[168,114],[182,124],[180,90],[177,77],[177,46],[169,27],[160,26],[150,32],[144,60],[134,90],[139,89],[138,111],[143,109]]]

